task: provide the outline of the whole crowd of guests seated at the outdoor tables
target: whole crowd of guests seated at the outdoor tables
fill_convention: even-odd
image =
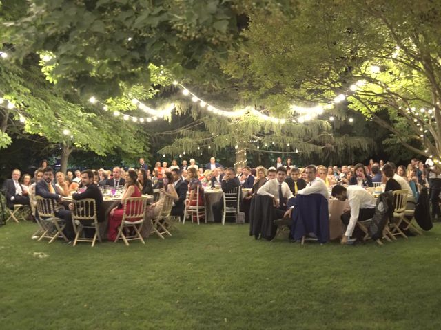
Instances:
[[[267,195],[274,201],[274,214],[280,219],[289,217],[291,208],[287,208],[287,201],[296,195],[322,194],[329,198],[329,190],[338,199],[357,199],[358,206],[353,202],[351,206],[358,212],[349,211],[342,216],[342,221],[347,226],[343,236],[350,239],[353,230],[353,221],[358,217],[365,219],[371,215],[363,211],[365,208],[375,207],[373,199],[363,195],[364,188],[372,187],[374,183],[382,183],[385,190],[408,191],[408,200],[416,201],[423,187],[431,185],[431,201],[433,217],[441,217],[439,195],[441,192],[441,174],[435,168],[431,159],[424,164],[418,159],[412,159],[407,167],[398,166],[391,162],[384,163],[370,160],[369,164],[356,164],[344,166],[314,166],[297,168],[291,165],[291,159],[283,162],[280,157],[275,166],[264,168],[257,166],[250,168],[244,166],[238,172],[234,168],[224,168],[212,157],[205,166],[196,164],[194,159],[186,160],[178,165],[176,160],[171,166],[167,162],[156,162],[154,168],[149,168],[145,159],[139,159],[139,168],[129,168],[127,171],[118,166],[112,170],[79,170],[67,173],[57,172],[44,161],[34,176],[21,175],[20,170],[12,171],[12,178],[6,180],[3,188],[6,191],[6,202],[9,208],[14,204],[30,204],[30,195],[38,195],[53,199],[57,204],[57,217],[66,223],[65,234],[68,239],[73,237],[72,216],[70,211],[73,204],[65,206],[63,197],[72,195],[72,199],[94,198],[96,200],[98,219],[104,221],[103,195],[99,187],[124,187],[125,192],[118,207],[112,209],[109,214],[108,239],[116,238],[117,228],[123,217],[121,208],[128,197],[152,195],[154,189],[160,190],[160,197],[149,206],[147,216],[156,217],[161,211],[165,198],[173,201],[172,215],[183,217],[185,206],[192,206],[198,193],[198,205],[204,205],[204,190],[219,188],[223,192],[241,186],[247,193],[241,202],[241,208],[245,212],[245,218],[249,220],[249,205],[256,195]],[[354,188],[356,187],[356,188]],[[190,198],[187,199],[187,192]],[[32,199],[34,200],[34,199]],[[186,205],[187,203],[187,205]],[[360,211],[361,210],[361,211]],[[223,201],[214,203],[212,206],[214,220],[221,221]]]

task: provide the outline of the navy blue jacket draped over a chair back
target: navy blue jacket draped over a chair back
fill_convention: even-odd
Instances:
[[[291,237],[294,240],[298,241],[312,232],[320,243],[329,241],[328,200],[323,195],[297,195],[289,199],[288,206],[290,204],[294,204],[291,214]]]

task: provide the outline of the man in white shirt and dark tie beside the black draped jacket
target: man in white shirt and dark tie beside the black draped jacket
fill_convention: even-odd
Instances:
[[[288,184],[285,182],[287,176],[287,170],[284,167],[277,169],[276,179],[271,179],[257,191],[257,195],[269,196],[273,199],[274,207],[280,212],[280,218],[283,217],[287,209],[287,200],[293,197]],[[280,213],[280,214],[279,214]]]

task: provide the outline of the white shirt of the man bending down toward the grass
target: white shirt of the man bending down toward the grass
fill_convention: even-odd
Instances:
[[[353,229],[356,228],[360,208],[375,208],[376,201],[365,188],[357,185],[348,186],[346,194],[351,208],[351,219],[349,219],[345,235],[351,237]]]

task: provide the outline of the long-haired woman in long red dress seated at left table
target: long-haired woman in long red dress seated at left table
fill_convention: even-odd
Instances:
[[[125,179],[125,192],[121,203],[116,208],[113,208],[109,214],[109,231],[107,232],[107,239],[114,241],[118,235],[118,227],[123,221],[124,209],[122,208],[125,199],[129,197],[141,197],[141,190],[138,184],[138,175],[135,170],[129,170]],[[127,205],[126,213],[130,213],[130,205]]]

